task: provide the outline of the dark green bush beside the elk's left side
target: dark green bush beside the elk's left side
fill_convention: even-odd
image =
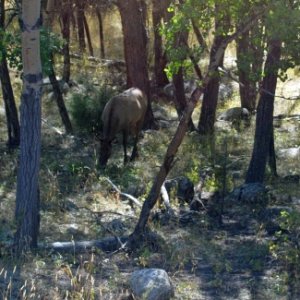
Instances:
[[[107,101],[115,94],[107,86],[89,87],[85,93],[71,97],[70,112],[80,131],[97,134],[102,130],[101,114]]]

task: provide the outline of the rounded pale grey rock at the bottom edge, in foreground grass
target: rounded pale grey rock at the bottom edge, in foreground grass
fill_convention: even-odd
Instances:
[[[168,300],[174,295],[169,276],[163,269],[141,269],[133,272],[130,287],[135,299]]]

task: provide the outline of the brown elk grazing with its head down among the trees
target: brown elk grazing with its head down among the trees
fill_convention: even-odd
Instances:
[[[116,134],[123,134],[124,164],[127,157],[127,138],[134,136],[134,145],[130,160],[138,156],[137,142],[147,110],[147,98],[138,88],[130,88],[111,98],[102,113],[103,135],[100,147],[100,167],[105,167],[111,155],[112,141]]]

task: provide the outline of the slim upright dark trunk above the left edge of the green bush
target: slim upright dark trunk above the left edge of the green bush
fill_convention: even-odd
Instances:
[[[71,21],[71,4],[70,0],[63,0],[61,23],[62,23],[62,37],[65,40],[63,45],[64,67],[62,79],[64,82],[69,83],[71,76],[71,59],[70,59],[70,21]]]

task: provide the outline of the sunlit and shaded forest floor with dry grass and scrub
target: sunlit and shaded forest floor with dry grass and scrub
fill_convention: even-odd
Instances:
[[[276,107],[275,115],[296,116],[276,119],[278,154],[299,147],[299,108],[295,101],[286,103]],[[228,102],[219,107],[219,112],[235,104]],[[154,109],[165,119],[176,118],[169,105],[155,104]],[[168,121],[164,122],[165,128],[145,132],[140,141],[140,158],[126,166],[122,162],[122,149],[115,144],[107,169],[99,172],[95,167],[98,141],[88,135],[59,134],[54,128],[63,130],[54,102],[44,102],[43,114],[47,123],[43,123],[40,171],[41,250],[18,260],[10,255],[6,246],[14,232],[18,151],[7,150],[5,119],[0,116],[1,299],[131,299],[131,273],[150,267],[168,272],[174,286],[174,299],[300,299],[297,267],[300,226],[293,223],[291,228],[280,227],[281,222],[293,221],[281,212],[270,225],[254,208],[241,203],[231,208],[224,204],[222,224],[209,216],[205,207],[186,223],[178,219],[151,220],[149,227],[161,237],[157,249],[145,245],[129,255],[97,249],[58,253],[43,248],[57,241],[99,240],[112,233],[130,234],[140,209],[120,197],[106,178],[122,192],[143,201],[177,125]],[[198,115],[199,108],[194,114],[195,122]],[[254,117],[250,127],[242,126],[239,130],[229,123],[219,123],[213,143],[189,133],[169,178],[187,176],[196,185],[200,173],[210,169],[212,175],[204,191],[220,189],[222,176],[225,176],[229,193],[243,183],[252,150],[254,124]],[[266,209],[300,210],[299,178],[295,181],[294,177],[286,177],[300,174],[299,158],[299,154],[278,155],[279,178],[272,178],[269,173],[266,176],[269,190]],[[226,172],[222,173],[224,161]],[[175,212],[188,211],[187,206],[179,206],[174,195],[171,198]],[[156,211],[160,211],[159,207]],[[295,234],[296,241],[282,229]]]

